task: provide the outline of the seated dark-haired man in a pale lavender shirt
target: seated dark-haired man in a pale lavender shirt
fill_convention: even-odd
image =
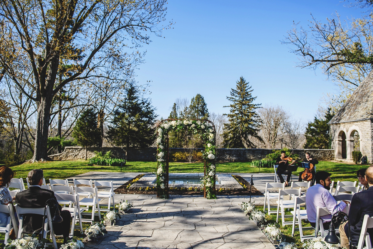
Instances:
[[[307,206],[307,217],[312,227],[316,227],[316,209],[317,206],[320,208],[327,207],[330,213],[334,214],[337,211],[342,211],[347,206],[347,201],[342,201],[337,204],[330,190],[330,173],[326,171],[318,171],[315,174],[316,184],[309,187],[305,195],[305,203]],[[321,216],[323,227],[325,230],[329,229],[330,221],[332,220],[332,214]]]

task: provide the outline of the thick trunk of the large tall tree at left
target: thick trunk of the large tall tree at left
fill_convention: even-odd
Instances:
[[[31,162],[40,160],[51,161],[47,155],[47,141],[52,98],[52,94],[45,94],[37,102],[38,114],[36,120],[35,149],[34,156],[30,160]]]

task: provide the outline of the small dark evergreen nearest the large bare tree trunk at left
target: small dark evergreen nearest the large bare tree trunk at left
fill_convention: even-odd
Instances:
[[[81,146],[98,146],[101,134],[97,128],[97,113],[93,111],[93,108],[82,113],[76,121],[72,136]]]

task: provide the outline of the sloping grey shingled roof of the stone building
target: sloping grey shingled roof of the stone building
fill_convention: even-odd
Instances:
[[[369,119],[373,119],[373,71],[360,83],[328,124]]]

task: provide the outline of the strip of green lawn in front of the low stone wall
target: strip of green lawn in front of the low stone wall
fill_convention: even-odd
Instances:
[[[203,172],[203,163],[170,162],[169,171],[173,173]],[[342,162],[320,161],[316,170],[325,170],[332,173],[332,180],[357,181],[355,172],[358,169],[366,168],[368,165],[346,164]],[[156,162],[127,162],[122,172],[154,172]],[[89,171],[120,172],[119,167],[112,166],[88,166],[88,161],[53,161],[33,164],[22,164],[13,166],[16,178],[25,179],[31,169],[39,168],[44,170],[44,177],[47,182],[49,178],[64,179],[74,175],[83,174]],[[302,170],[298,168],[298,172]],[[216,172],[220,173],[273,173],[273,168],[251,168],[250,162],[224,162],[217,164]]]

